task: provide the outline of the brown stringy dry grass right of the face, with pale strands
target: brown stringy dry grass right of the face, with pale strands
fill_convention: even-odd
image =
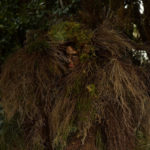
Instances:
[[[128,41],[105,28],[105,25],[97,30],[95,36],[96,56],[81,63],[66,77],[67,92],[64,91],[66,94],[63,101],[68,109],[66,111],[72,115],[70,118],[64,116],[62,120],[70,120],[72,116],[76,118],[78,136],[84,143],[89,129],[97,119],[105,133],[103,136],[106,138],[107,149],[133,149],[135,129],[149,97],[147,88],[132,61],[125,59],[132,50]],[[62,103],[61,100],[58,103]],[[76,107],[67,107],[73,104]],[[60,107],[57,110],[63,114]],[[60,126],[64,126],[64,123]]]

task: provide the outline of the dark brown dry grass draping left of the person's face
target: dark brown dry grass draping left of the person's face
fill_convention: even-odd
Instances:
[[[31,37],[33,37],[34,34],[33,32]],[[42,39],[42,41],[45,39],[45,43],[47,44],[41,43],[40,39]],[[33,38],[33,41],[30,40],[27,39],[25,48],[17,51],[8,59],[8,63],[5,64],[7,69],[4,69],[6,71],[4,71],[6,74],[3,72],[5,74],[4,76],[6,78],[13,78],[9,80],[10,82],[6,87],[2,84],[5,84],[7,79],[5,77],[3,79],[1,78],[1,87],[3,87],[1,88],[1,92],[4,94],[6,91],[11,91],[9,88],[14,86],[14,93],[8,92],[7,98],[5,97],[5,99],[3,97],[5,100],[3,99],[2,106],[6,111],[8,120],[10,120],[16,112],[20,114],[21,127],[23,128],[25,138],[27,138],[25,145],[27,149],[31,147],[33,150],[34,147],[38,145],[41,148],[45,147],[43,141],[46,142],[46,144],[47,141],[49,142],[49,139],[45,141],[44,137],[45,133],[48,134],[48,136],[50,134],[44,131],[47,126],[49,128],[49,121],[45,114],[50,115],[50,108],[54,101],[53,94],[55,92],[53,86],[55,85],[55,79],[60,79],[65,71],[65,56],[63,57],[59,49],[51,44],[46,35],[42,35],[42,37],[37,36],[35,39]],[[36,44],[38,43],[39,50],[35,50],[37,47],[35,47],[36,44],[34,42]],[[9,63],[13,65],[10,66],[10,68],[15,68],[15,70],[10,70]],[[6,88],[8,89],[6,90]]]

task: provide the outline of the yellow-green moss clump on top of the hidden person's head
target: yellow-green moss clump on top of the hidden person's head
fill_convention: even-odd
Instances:
[[[65,21],[53,25],[49,35],[53,41],[60,43],[70,41],[80,47],[90,42],[93,33],[78,22]]]

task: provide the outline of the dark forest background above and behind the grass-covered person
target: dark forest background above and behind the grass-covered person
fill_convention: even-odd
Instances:
[[[140,5],[143,5],[141,10]],[[139,43],[150,40],[150,2],[148,0],[1,0],[1,61],[23,47],[29,30],[49,30],[53,23],[71,19],[96,28],[104,20]],[[136,30],[138,35],[133,36]]]

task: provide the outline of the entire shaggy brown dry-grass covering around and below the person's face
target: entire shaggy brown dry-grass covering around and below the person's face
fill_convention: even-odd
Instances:
[[[107,150],[135,148],[149,96],[123,35],[100,26],[88,48],[80,46],[80,63],[69,73],[65,46],[41,36],[26,45],[3,66],[0,87],[8,118],[20,113],[28,150],[65,149],[72,137],[83,150],[102,143]]]

